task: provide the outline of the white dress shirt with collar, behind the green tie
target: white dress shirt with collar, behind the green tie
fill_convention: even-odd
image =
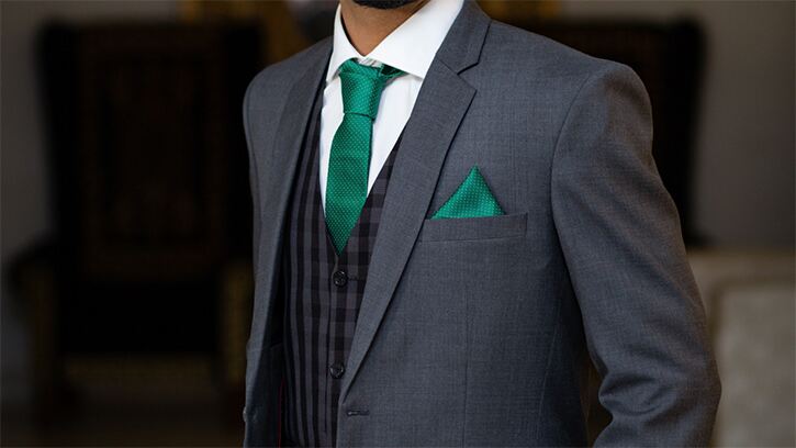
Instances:
[[[371,141],[368,193],[381,167],[397,141],[401,131],[412,114],[417,93],[428,67],[448,34],[450,25],[459,14],[463,0],[429,0],[404,23],[362,56],[348,41],[343,29],[340,7],[335,14],[332,57],[326,72],[324,102],[321,111],[321,203],[326,210],[326,179],[329,168],[332,138],[343,122],[343,92],[338,68],[350,58],[369,66],[386,64],[406,72],[388,82],[379,102],[379,112],[373,122]]]

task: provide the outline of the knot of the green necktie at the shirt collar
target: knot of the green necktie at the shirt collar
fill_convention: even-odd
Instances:
[[[369,67],[348,59],[340,65],[339,75],[343,112],[366,115],[374,120],[386,81],[404,72],[388,65]]]

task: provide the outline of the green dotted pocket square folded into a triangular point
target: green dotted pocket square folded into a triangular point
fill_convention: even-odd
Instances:
[[[502,215],[503,209],[492,195],[478,167],[472,167],[467,179],[437,210],[431,220],[447,217],[482,217]]]

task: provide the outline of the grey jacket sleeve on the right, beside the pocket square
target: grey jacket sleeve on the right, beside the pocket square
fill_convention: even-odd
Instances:
[[[553,221],[612,422],[596,446],[705,446],[720,383],[641,80],[608,63],[580,88],[551,172]]]

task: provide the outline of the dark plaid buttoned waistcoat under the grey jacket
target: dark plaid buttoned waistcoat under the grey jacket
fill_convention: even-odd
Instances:
[[[284,239],[283,305],[287,390],[283,438],[298,446],[334,446],[337,399],[365,291],[375,233],[399,137],[338,257],[326,228],[318,182],[319,89],[294,180]],[[341,275],[340,272],[345,272]],[[337,282],[335,281],[337,280]],[[345,284],[339,284],[345,283]],[[335,378],[333,369],[344,367]]]

